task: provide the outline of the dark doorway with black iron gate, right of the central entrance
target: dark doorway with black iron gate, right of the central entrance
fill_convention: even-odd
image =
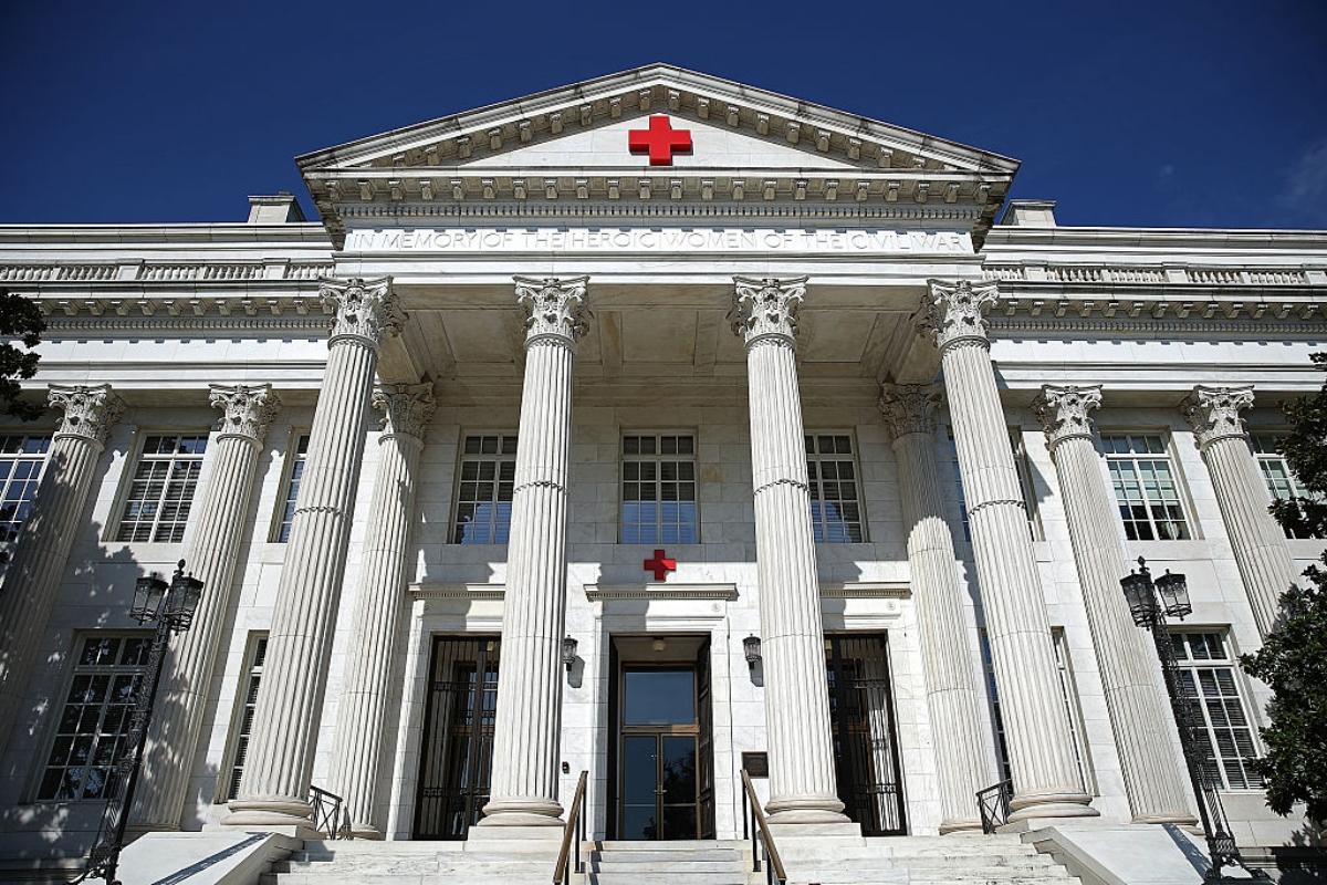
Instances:
[[[901,836],[908,821],[886,637],[827,636],[825,670],[844,813],[865,836]]]

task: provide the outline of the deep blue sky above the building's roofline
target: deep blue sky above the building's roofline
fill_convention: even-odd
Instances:
[[[1327,228],[1323,0],[0,0],[0,222],[308,208],[297,154],[649,61],[1016,157],[1062,224]]]

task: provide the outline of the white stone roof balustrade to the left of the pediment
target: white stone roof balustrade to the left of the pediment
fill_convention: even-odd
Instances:
[[[192,261],[125,264],[0,264],[0,283],[234,283],[317,280],[330,261]]]

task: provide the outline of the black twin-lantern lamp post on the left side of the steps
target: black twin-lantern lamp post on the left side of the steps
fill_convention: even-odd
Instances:
[[[147,667],[134,690],[134,709],[129,718],[125,755],[115,763],[101,829],[97,832],[97,841],[88,857],[88,872],[82,878],[97,876],[107,885],[119,885],[115,872],[119,866],[119,852],[125,847],[125,829],[129,827],[134,788],[138,787],[143,746],[147,743],[147,724],[153,719],[153,705],[157,702],[162,658],[171,634],[187,630],[194,622],[194,613],[202,597],[203,582],[184,573],[184,560],[179,561],[170,584],[166,584],[161,575],[153,573],[138,579],[134,585],[134,605],[129,609],[129,616],[139,624],[155,624],[157,632],[153,634]],[[121,784],[123,789],[119,789]]]

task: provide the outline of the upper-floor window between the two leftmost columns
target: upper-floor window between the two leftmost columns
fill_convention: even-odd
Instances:
[[[117,541],[184,540],[184,525],[203,471],[207,434],[154,434],[143,441],[129,486]]]

